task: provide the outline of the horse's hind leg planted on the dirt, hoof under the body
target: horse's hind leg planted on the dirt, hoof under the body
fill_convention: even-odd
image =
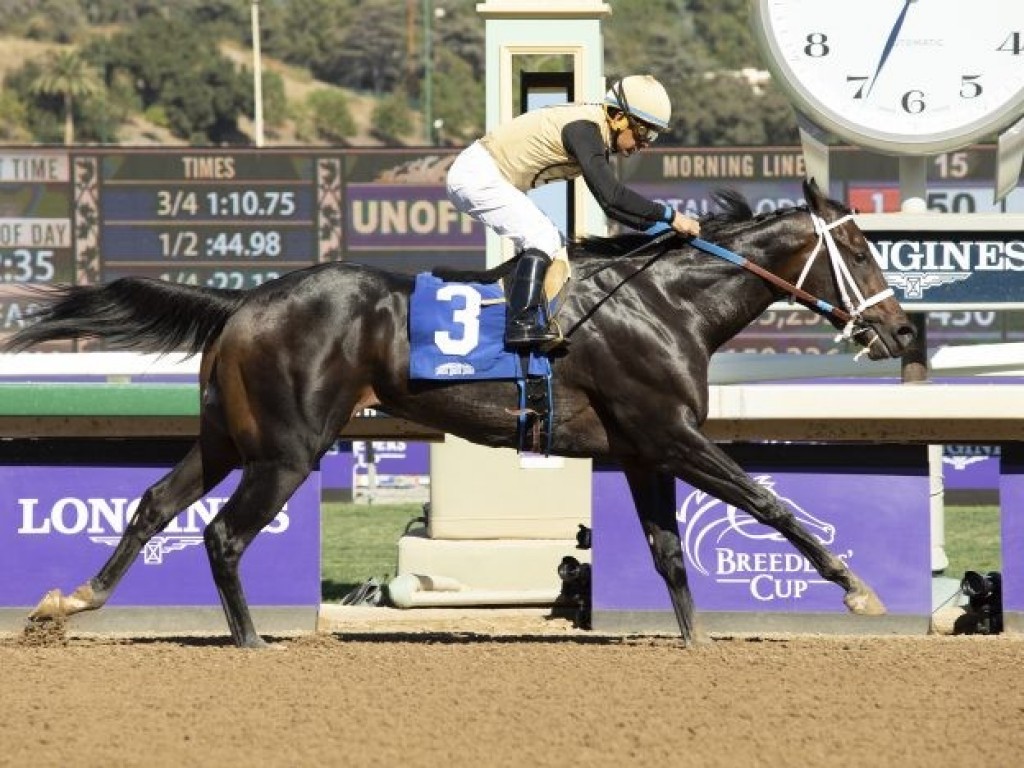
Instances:
[[[239,562],[308,473],[308,469],[287,469],[279,462],[247,464],[239,487],[203,534],[227,627],[240,648],[262,648],[266,642],[253,624],[239,579]]]

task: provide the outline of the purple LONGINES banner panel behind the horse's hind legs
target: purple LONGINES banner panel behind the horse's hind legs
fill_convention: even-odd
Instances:
[[[70,592],[113,554],[142,492],[164,466],[0,466],[0,608]],[[238,485],[232,472],[139,553],[114,606],[216,606],[203,530]],[[242,561],[253,606],[319,605],[319,472],[304,482]]]

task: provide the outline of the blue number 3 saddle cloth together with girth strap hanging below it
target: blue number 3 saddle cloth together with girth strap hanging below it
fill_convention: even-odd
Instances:
[[[423,272],[409,305],[411,379],[514,380],[519,450],[550,453],[551,360],[505,348],[505,296],[484,283],[445,283]],[[526,369],[525,372],[523,369]]]

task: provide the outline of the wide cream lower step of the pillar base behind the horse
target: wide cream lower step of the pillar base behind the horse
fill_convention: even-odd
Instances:
[[[463,591],[486,591],[488,604],[516,604],[516,593],[539,590],[549,591],[553,602],[561,592],[558,565],[565,556],[590,562],[590,550],[577,549],[574,539],[447,540],[421,530],[398,540],[398,575],[454,580]],[[496,592],[507,598],[494,603]]]

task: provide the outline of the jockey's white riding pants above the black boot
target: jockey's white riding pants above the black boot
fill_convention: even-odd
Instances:
[[[458,210],[509,238],[517,251],[537,248],[554,257],[562,247],[555,223],[502,175],[479,141],[463,150],[449,169],[447,195]]]

